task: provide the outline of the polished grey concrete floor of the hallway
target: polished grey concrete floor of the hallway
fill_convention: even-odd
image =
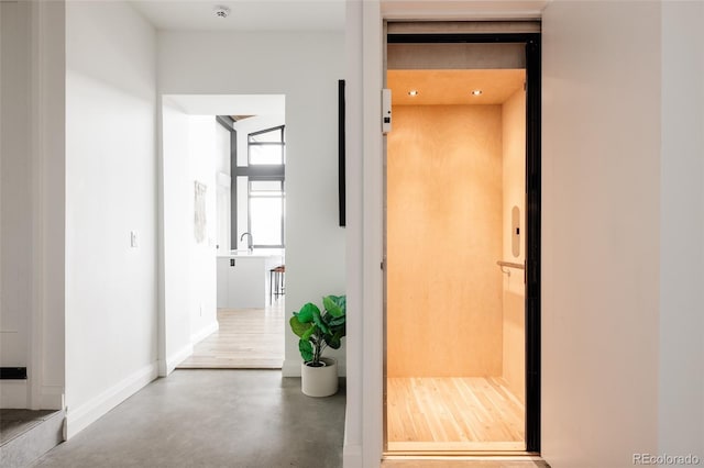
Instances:
[[[35,467],[342,467],[344,381],[310,398],[277,370],[176,370]]]

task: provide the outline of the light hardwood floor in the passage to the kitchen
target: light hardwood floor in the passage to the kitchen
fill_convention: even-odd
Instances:
[[[178,369],[280,369],[284,299],[266,309],[218,309],[219,330],[195,346]]]

